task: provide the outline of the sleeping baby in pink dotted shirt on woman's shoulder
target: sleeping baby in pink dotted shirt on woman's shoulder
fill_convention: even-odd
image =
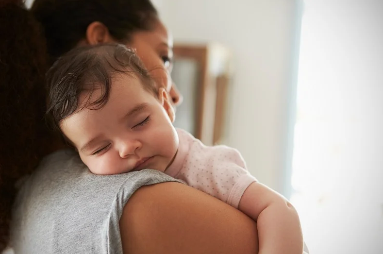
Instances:
[[[48,114],[95,174],[156,169],[257,221],[260,254],[301,254],[294,207],[250,175],[238,151],[175,129],[164,88],[122,45],[69,51],[47,73]]]

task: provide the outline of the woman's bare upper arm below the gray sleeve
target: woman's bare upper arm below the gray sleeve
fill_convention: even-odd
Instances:
[[[120,219],[124,254],[257,254],[256,224],[179,183],[138,189]]]

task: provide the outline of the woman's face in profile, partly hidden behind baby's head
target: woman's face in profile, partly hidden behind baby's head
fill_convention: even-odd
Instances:
[[[175,106],[183,98],[173,83],[170,73],[173,67],[173,38],[161,21],[150,31],[135,32],[129,45],[136,50],[145,67],[160,87],[165,87]]]

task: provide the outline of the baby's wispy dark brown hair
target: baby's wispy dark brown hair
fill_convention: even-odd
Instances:
[[[102,108],[108,102],[111,83],[117,74],[138,78],[144,89],[158,96],[157,87],[140,59],[122,44],[75,48],[57,59],[46,75],[47,115],[53,127],[60,130],[61,120],[84,107]],[[92,93],[96,89],[101,89],[101,93],[95,99]],[[80,102],[83,92],[88,96],[85,102]]]

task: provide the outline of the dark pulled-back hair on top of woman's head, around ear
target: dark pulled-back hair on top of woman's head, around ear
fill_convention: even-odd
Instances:
[[[133,32],[150,30],[158,18],[150,0],[35,0],[31,11],[44,27],[53,60],[84,39],[94,21],[124,43]]]

